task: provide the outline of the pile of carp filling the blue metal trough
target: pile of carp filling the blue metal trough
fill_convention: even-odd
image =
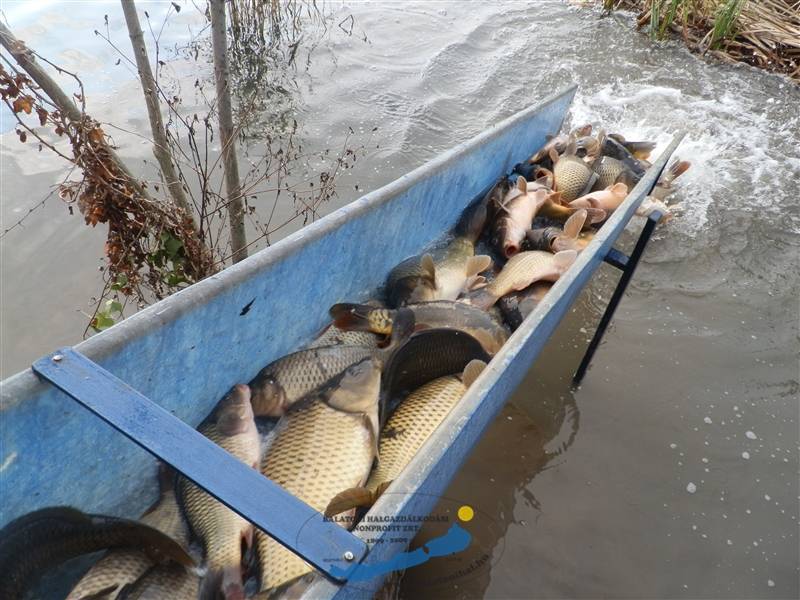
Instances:
[[[343,526],[356,523],[622,204],[653,147],[591,126],[553,137],[468,206],[446,243],[398,264],[374,300],[331,307],[316,340],[235,385],[199,431],[318,511],[349,516]],[[668,218],[665,199],[688,167],[672,163],[639,214]],[[37,569],[103,549],[70,600],[294,597],[307,587],[311,566],[161,473],[161,498],[139,522],[60,507],[11,523],[2,597],[23,597]],[[23,558],[36,536],[49,550]]]

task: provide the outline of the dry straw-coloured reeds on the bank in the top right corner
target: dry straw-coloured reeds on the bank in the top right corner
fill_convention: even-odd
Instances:
[[[701,54],[783,73],[800,83],[800,0],[598,0],[639,13],[652,39],[679,35]]]

